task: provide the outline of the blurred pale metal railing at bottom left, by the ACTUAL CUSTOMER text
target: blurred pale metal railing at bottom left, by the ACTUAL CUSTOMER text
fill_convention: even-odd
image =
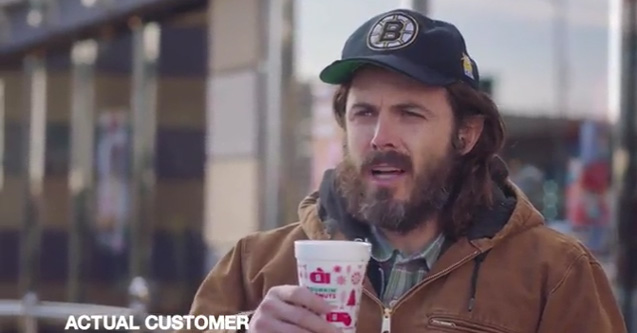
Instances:
[[[28,292],[21,300],[0,299],[0,319],[15,318],[24,333],[37,333],[40,321],[64,325],[70,316],[103,315],[134,316],[143,319],[148,314],[150,292],[141,277],[131,281],[128,288],[128,307],[99,304],[40,301],[34,292]],[[159,331],[155,331],[159,332]]]

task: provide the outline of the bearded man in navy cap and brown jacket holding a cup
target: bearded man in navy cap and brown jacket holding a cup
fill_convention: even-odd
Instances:
[[[339,85],[343,161],[299,222],[221,259],[192,314],[249,313],[251,332],[336,332],[326,303],[297,286],[293,243],[366,239],[357,332],[626,331],[600,264],[508,179],[502,118],[453,25],[376,16],[321,79]]]

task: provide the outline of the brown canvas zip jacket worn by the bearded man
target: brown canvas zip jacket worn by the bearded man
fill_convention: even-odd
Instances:
[[[393,308],[368,276],[357,332],[626,332],[600,263],[545,226],[515,185],[505,187],[515,204],[504,226],[451,244]],[[301,203],[299,222],[241,239],[205,278],[191,314],[253,311],[269,288],[297,284],[295,240],[345,239],[326,230],[319,207],[314,193]]]

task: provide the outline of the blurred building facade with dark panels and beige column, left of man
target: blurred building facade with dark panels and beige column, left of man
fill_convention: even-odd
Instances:
[[[292,1],[0,2],[0,299],[184,313],[310,187]],[[305,94],[307,96],[307,94]],[[298,140],[297,140],[298,138]]]

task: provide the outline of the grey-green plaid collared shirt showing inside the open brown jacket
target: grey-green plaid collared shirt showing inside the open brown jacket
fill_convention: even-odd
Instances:
[[[444,235],[440,234],[423,251],[404,256],[389,244],[381,232],[372,228],[372,258],[378,261],[383,270],[380,298],[386,306],[392,307],[405,292],[427,275],[438,259],[444,241]]]

